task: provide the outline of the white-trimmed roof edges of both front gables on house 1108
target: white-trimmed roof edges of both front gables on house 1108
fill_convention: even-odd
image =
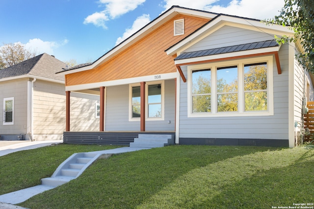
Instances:
[[[119,45],[115,46],[113,49],[106,52],[103,56],[98,58],[93,63],[86,63],[86,64],[75,66],[73,68],[62,69],[62,71],[58,72],[58,74],[60,73],[61,75],[67,75],[67,74],[78,73],[82,71],[95,69],[97,66],[110,60],[113,56],[119,54],[120,52],[123,52],[125,49],[130,47],[136,41],[145,37],[148,33],[152,32],[157,27],[161,26],[165,21],[170,20],[172,17],[178,14],[184,14],[188,16],[201,17],[204,19],[208,19],[208,23],[199,27],[197,30],[195,30],[194,32],[192,32],[191,34],[189,34],[188,36],[186,36],[185,38],[183,38],[182,40],[180,40],[173,46],[166,49],[165,52],[171,56],[175,56],[175,54],[179,55],[181,52],[183,52],[184,49],[188,48],[193,43],[196,43],[198,40],[202,39],[202,37],[205,34],[208,35],[208,32],[211,33],[213,31],[216,31],[221,26],[224,26],[226,24],[229,24],[232,26],[241,26],[241,27],[243,26],[248,29],[258,30],[265,33],[277,34],[277,35],[284,35],[284,34],[291,33],[291,31],[288,30],[288,28],[285,28],[279,25],[267,26],[266,24],[261,23],[261,21],[257,19],[212,13],[208,11],[190,9],[190,8],[185,8],[185,7],[180,7],[180,6],[172,6],[166,12],[159,15],[156,19],[154,19],[149,24],[147,24],[146,26],[142,27],[140,30],[132,34],[129,38],[124,40]]]

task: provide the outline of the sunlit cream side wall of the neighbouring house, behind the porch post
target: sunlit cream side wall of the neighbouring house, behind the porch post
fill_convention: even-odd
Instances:
[[[33,98],[33,140],[62,139],[65,131],[65,89],[62,83],[36,80]],[[95,103],[99,96],[71,93],[70,130],[98,131]]]

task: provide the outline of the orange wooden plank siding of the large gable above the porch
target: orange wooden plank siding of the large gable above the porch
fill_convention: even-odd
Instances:
[[[183,18],[184,35],[174,36],[173,22]],[[208,21],[208,19],[177,15],[95,69],[66,75],[66,85],[176,72],[174,58],[164,51]]]

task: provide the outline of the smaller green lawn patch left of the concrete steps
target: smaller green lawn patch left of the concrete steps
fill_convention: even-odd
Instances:
[[[40,184],[74,153],[113,149],[118,146],[56,145],[0,157],[0,195]]]

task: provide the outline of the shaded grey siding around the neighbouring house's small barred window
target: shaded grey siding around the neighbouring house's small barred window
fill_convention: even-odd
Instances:
[[[27,126],[27,79],[0,82],[0,135],[24,134]],[[3,125],[3,98],[14,97],[14,124]],[[2,140],[7,140],[4,136]],[[10,138],[8,140],[17,140]]]

